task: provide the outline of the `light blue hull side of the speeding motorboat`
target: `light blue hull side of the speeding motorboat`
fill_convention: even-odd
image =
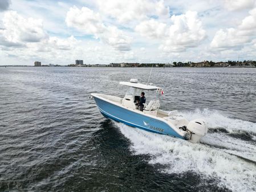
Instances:
[[[123,122],[126,125],[144,129],[149,132],[166,134],[168,136],[185,139],[164,121],[130,111],[98,97],[94,97],[94,99],[101,114],[106,118]]]

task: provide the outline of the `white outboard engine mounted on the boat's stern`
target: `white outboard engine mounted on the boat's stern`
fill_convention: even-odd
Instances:
[[[189,122],[186,129],[192,133],[190,141],[196,143],[208,132],[208,124],[203,119],[195,119]]]

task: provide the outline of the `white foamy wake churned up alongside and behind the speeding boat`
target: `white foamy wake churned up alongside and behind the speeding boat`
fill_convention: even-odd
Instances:
[[[160,171],[164,173],[193,171],[218,179],[217,185],[231,191],[255,191],[256,124],[208,109],[181,115],[188,120],[200,117],[208,121],[209,133],[201,138],[200,144],[114,124],[129,138],[134,154],[148,154],[148,163],[162,165]]]

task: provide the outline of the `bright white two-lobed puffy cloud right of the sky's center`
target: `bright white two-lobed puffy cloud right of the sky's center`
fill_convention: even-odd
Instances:
[[[206,37],[206,31],[196,11],[187,11],[182,15],[173,15],[172,24],[167,25],[155,19],[143,21],[135,28],[142,36],[162,39],[160,49],[184,51],[188,47],[196,47]]]

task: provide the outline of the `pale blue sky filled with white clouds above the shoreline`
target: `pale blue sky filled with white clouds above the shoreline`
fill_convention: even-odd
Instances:
[[[256,60],[256,0],[0,0],[0,65]]]

